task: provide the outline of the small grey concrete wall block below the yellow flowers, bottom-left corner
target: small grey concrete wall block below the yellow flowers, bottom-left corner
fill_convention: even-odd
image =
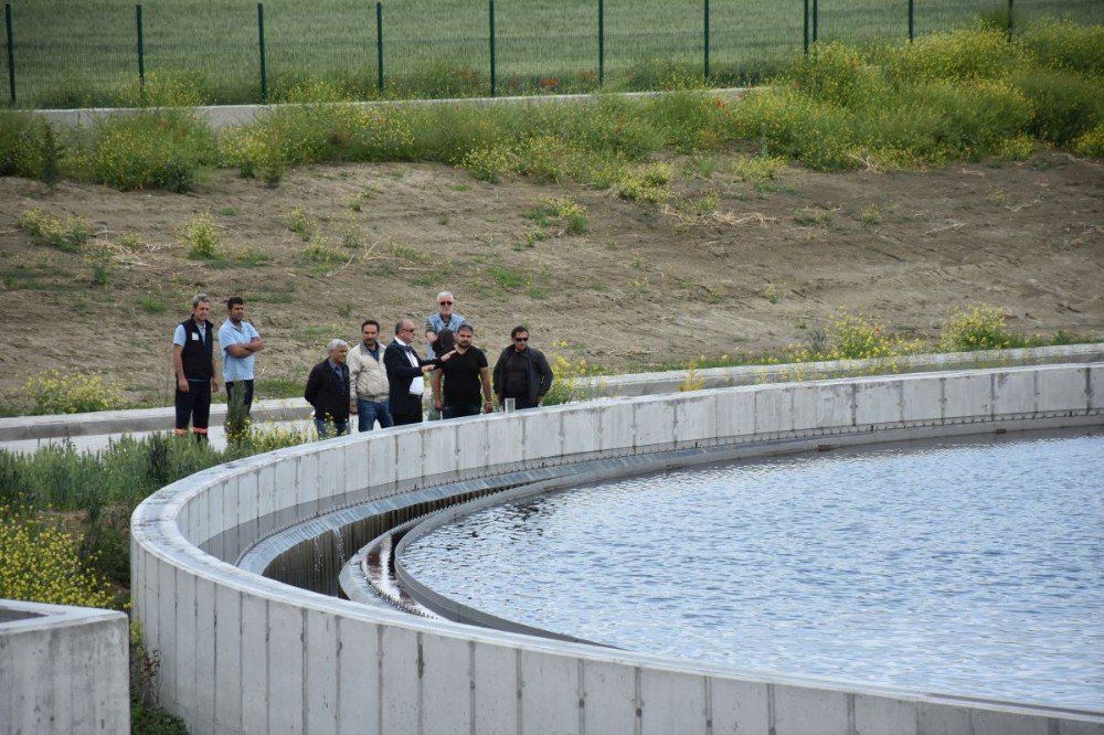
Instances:
[[[127,616],[0,600],[0,733],[130,732]]]

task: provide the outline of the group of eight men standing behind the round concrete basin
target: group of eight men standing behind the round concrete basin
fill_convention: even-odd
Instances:
[[[348,434],[351,416],[357,416],[360,432],[372,430],[376,423],[381,428],[421,423],[427,391],[434,411],[446,419],[489,414],[496,398],[500,405],[513,403],[518,409],[539,406],[552,387],[553,374],[544,355],[529,347],[529,330],[513,328],[510,344],[491,371],[487,355],[473,344],[475,328],[453,310],[454,305],[450,292],[437,295],[437,311],[424,324],[425,359],[414,348],[417,328],[411,319],[395,323],[394,339],[386,347],[380,343],[381,328],[374,319],[361,323],[361,340],[355,347],[331,340],[326,359],[311,369],[304,391],[315,409],[319,436]],[[226,308],[226,322],[219,330],[223,377],[231,405],[244,407],[247,417],[255,353],[264,349],[264,341],[245,321],[241,297],[230,299]],[[198,295],[192,299],[191,317],[177,326],[173,335],[176,430],[185,434],[191,420],[198,438],[206,436],[211,393],[219,390],[210,310],[210,298]]]

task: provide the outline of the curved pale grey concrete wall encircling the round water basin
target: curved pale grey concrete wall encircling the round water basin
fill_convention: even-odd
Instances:
[[[607,398],[332,439],[201,472],[142,503],[131,522],[136,612],[161,652],[161,702],[193,733],[1104,734],[1100,712],[765,680],[427,621],[222,561],[352,503],[582,458],[1102,415],[1094,363]]]

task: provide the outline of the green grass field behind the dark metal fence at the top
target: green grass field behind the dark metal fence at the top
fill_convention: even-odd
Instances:
[[[705,0],[605,0],[605,82],[654,88],[704,71]],[[809,0],[811,6],[813,0]],[[978,17],[1007,18],[1008,0],[915,0],[917,35]],[[799,53],[804,0],[710,0],[710,71],[716,84],[755,81]],[[821,40],[906,38],[905,0],[819,0]],[[13,0],[15,106],[108,105],[138,78],[134,2]],[[1055,15],[1104,22],[1100,0],[1016,0],[1016,21]],[[375,3],[267,0],[268,90],[329,81],[376,94]],[[246,0],[146,0],[147,75],[192,79],[208,102],[261,99],[257,6]],[[499,94],[586,90],[597,85],[598,0],[498,0]],[[385,96],[481,95],[489,90],[488,2],[384,3]],[[7,41],[7,39],[6,39]],[[3,54],[0,102],[10,104]]]

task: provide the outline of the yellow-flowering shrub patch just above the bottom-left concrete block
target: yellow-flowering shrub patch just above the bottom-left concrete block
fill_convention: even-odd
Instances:
[[[70,534],[0,507],[0,597],[113,607],[114,595],[82,563],[77,547]]]

